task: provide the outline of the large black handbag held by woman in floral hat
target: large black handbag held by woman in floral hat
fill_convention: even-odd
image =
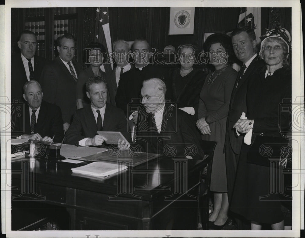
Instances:
[[[292,146],[289,139],[275,136],[257,135],[248,151],[247,163],[269,166],[282,165],[291,169]],[[270,161],[278,163],[270,163]]]

